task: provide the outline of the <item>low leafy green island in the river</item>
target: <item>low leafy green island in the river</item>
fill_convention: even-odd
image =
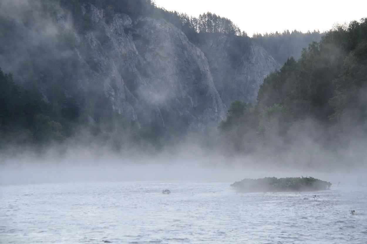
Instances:
[[[327,190],[331,183],[313,177],[265,177],[256,180],[243,179],[230,186],[239,192],[301,192]]]

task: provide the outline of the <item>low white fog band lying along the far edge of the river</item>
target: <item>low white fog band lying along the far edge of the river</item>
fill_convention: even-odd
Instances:
[[[77,151],[77,152],[75,152]],[[244,178],[311,176],[333,185],[366,184],[362,166],[322,169],[313,166],[279,166],[246,156],[229,158],[200,150],[144,155],[97,154],[75,150],[64,156],[25,155],[0,165],[0,184],[34,184],[90,181],[213,181],[234,182]]]

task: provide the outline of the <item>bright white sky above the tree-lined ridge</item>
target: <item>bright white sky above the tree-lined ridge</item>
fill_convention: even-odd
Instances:
[[[297,29],[330,30],[334,23],[349,23],[367,17],[366,0],[155,0],[166,10],[199,17],[212,12],[230,19],[248,36],[253,33],[283,32]]]

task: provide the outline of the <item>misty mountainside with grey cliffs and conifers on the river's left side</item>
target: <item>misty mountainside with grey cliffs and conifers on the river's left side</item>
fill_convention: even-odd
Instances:
[[[205,136],[320,35],[250,38],[223,16],[150,0],[0,1],[0,149],[160,150]]]

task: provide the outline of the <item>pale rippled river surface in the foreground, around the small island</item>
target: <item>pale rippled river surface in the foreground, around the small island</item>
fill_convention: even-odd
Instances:
[[[367,243],[366,186],[237,194],[231,183],[3,185],[0,242]]]

